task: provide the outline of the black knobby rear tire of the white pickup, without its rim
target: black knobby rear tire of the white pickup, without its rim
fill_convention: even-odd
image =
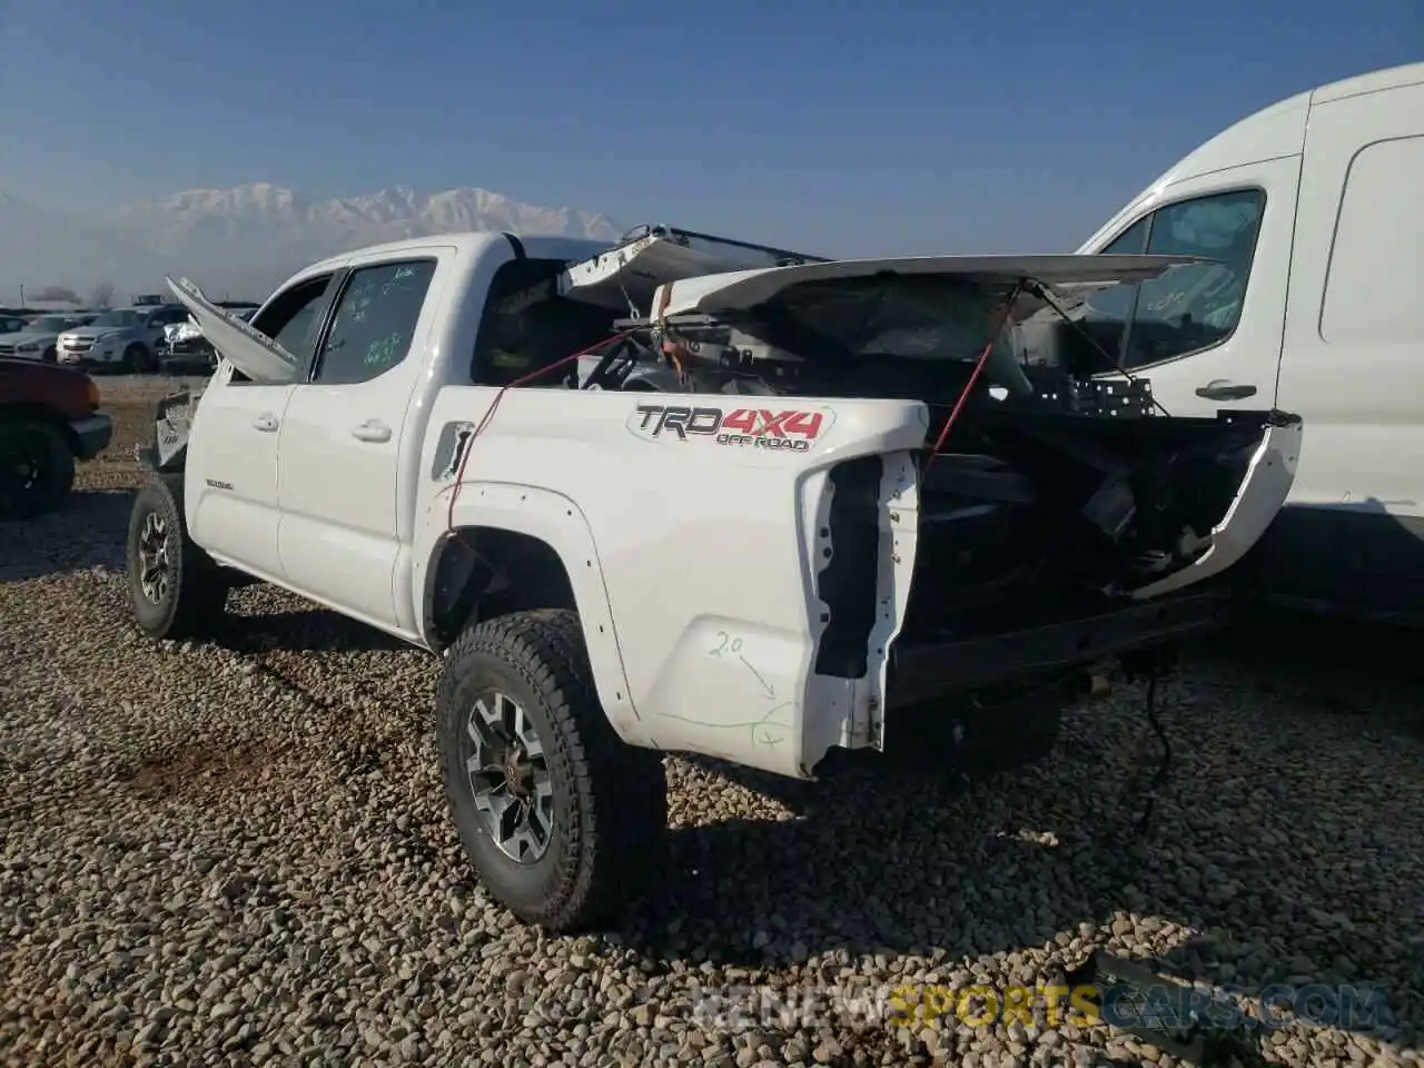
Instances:
[[[547,852],[533,863],[496,844],[461,756],[474,699],[491,688],[534,722],[550,770],[554,826]],[[436,715],[460,843],[500,904],[524,923],[571,933],[612,920],[645,889],[666,842],[662,755],[614,732],[575,612],[514,612],[467,628],[446,655]]]

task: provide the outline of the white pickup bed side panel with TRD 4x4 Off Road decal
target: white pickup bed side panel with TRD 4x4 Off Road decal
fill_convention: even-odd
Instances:
[[[416,591],[451,518],[457,431],[497,394],[449,386],[434,399]],[[886,550],[889,501],[913,511],[907,450],[924,433],[917,403],[511,389],[468,446],[453,525],[517,530],[558,550],[600,698],[625,740],[802,776],[829,745],[866,743],[884,685],[874,649],[862,679],[813,672],[824,629],[813,582],[832,550],[827,471],[886,454]],[[881,551],[890,570],[879,588],[899,584],[899,595],[876,622],[880,649],[903,618],[913,530],[911,515],[904,551]],[[891,555],[899,562],[884,562]]]

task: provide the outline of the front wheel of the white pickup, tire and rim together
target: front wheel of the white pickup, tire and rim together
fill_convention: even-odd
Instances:
[[[128,597],[150,638],[189,638],[206,631],[228,600],[221,570],[188,537],[182,476],[152,478],[128,517]]]

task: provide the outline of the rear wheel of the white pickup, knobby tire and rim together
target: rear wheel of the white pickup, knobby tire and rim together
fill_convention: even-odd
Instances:
[[[577,614],[467,628],[446,655],[436,712],[451,816],[491,897],[565,933],[644,890],[666,837],[666,772],[604,715]]]

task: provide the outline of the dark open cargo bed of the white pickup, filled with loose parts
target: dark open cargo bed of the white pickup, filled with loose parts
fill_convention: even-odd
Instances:
[[[585,360],[578,384],[921,400],[930,426],[904,637],[1077,618],[1202,557],[1263,427],[1292,417],[1162,417],[1142,379],[1035,360],[1012,323],[1044,302],[1014,300],[1022,292],[953,275],[796,283],[745,310],[624,320],[632,333]],[[864,514],[869,545],[879,531],[873,508]]]

